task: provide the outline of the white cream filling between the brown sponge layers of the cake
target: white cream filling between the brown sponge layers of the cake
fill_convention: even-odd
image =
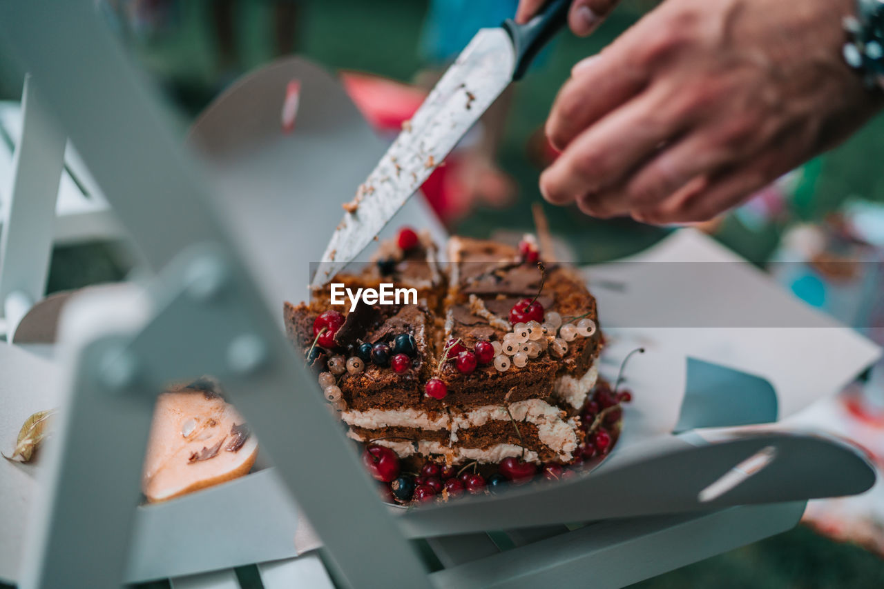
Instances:
[[[577,429],[575,419],[568,419],[567,421],[562,419],[564,415],[559,408],[540,399],[527,399],[525,401],[518,401],[510,404],[509,412],[507,412],[507,407],[503,405],[485,405],[484,407],[478,407],[469,412],[453,412],[450,419],[447,413],[439,413],[436,418],[431,418],[427,412],[415,409],[394,411],[370,409],[365,412],[347,411],[341,413],[341,418],[344,419],[348,425],[364,427],[366,429],[377,429],[380,427],[418,427],[426,430],[439,430],[450,428],[451,434],[449,436],[448,446],[443,446],[439,442],[421,441],[418,443],[435,445],[434,448],[438,447],[438,450],[430,450],[428,448],[427,451],[424,451],[421,449],[419,450],[419,453],[450,454],[451,452],[455,452],[459,453],[458,457],[468,458],[470,460],[498,462],[492,459],[492,457],[498,456],[500,452],[510,451],[510,449],[505,449],[504,447],[512,446],[512,444],[498,444],[489,449],[469,449],[456,448],[454,447],[454,443],[458,441],[458,430],[469,427],[481,427],[490,420],[509,421],[510,414],[512,414],[512,419],[514,419],[516,424],[522,421],[531,423],[537,427],[537,437],[540,442],[543,442],[546,446],[552,449],[552,451],[558,454],[561,460],[568,461],[573,457],[573,452],[577,448],[578,443],[577,434],[575,432]],[[414,447],[411,446],[409,442],[394,443],[400,444],[400,446],[403,447],[403,452],[406,452],[404,454],[400,453],[399,446],[395,448],[390,446],[395,449],[397,453],[400,453],[400,456],[406,457],[414,454]],[[389,444],[385,443],[385,445]],[[408,448],[405,448],[405,446],[408,446]],[[514,446],[514,448],[518,448],[519,455],[522,454],[521,446]],[[527,454],[528,453],[526,452],[526,455]],[[535,457],[537,456],[534,452],[531,452],[531,454],[534,454]],[[507,456],[516,455],[507,454],[503,457]]]

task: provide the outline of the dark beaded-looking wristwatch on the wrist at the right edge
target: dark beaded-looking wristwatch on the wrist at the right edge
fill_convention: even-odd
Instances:
[[[845,17],[850,40],[842,54],[869,88],[884,89],[884,0],[857,0],[856,16]]]

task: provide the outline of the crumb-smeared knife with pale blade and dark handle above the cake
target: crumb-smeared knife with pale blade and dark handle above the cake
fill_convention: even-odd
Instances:
[[[522,78],[566,24],[570,4],[552,0],[524,25],[507,19],[479,30],[345,205],[311,287],[324,286],[353,261],[510,82]]]

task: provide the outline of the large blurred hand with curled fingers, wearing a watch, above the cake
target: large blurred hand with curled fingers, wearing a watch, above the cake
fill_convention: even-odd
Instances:
[[[575,65],[546,123],[555,204],[705,221],[880,109],[841,57],[853,0],[667,0]]]

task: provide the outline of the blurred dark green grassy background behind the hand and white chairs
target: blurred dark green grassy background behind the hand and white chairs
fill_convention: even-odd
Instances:
[[[482,0],[476,0],[482,2]],[[357,70],[410,82],[425,64],[418,51],[427,3],[423,0],[264,0],[247,2],[187,0],[134,2],[106,0],[109,22],[132,50],[135,61],[164,88],[184,132],[194,115],[242,72],[274,57],[298,53],[331,70]],[[572,64],[598,51],[639,19],[654,2],[621,4],[588,40],[563,34],[542,67],[522,80],[514,94],[499,164],[518,185],[513,206],[479,208],[453,228],[484,237],[499,227],[530,230],[530,204],[539,200],[539,170],[526,144],[541,128]],[[139,11],[145,12],[139,12]],[[156,22],[144,16],[162,11]],[[118,19],[123,15],[123,19]],[[219,34],[224,30],[227,33]],[[19,87],[0,87],[14,98]],[[838,150],[809,167],[790,215],[819,220],[851,195],[884,201],[884,120],[880,117]],[[599,222],[568,208],[546,208],[552,227],[567,238],[582,261],[600,261],[651,245],[666,230],[626,220]],[[783,224],[750,230],[728,217],[716,235],[752,261],[763,262],[777,245]],[[97,244],[59,249],[53,257],[50,291],[104,280],[125,271],[115,249]],[[821,476],[824,474],[821,473]],[[638,557],[636,555],[636,557]],[[254,571],[240,570],[257,583]],[[592,571],[587,571],[591,586]],[[835,544],[798,527],[764,540],[653,578],[636,586],[664,587],[881,587],[884,562],[850,545]]]

